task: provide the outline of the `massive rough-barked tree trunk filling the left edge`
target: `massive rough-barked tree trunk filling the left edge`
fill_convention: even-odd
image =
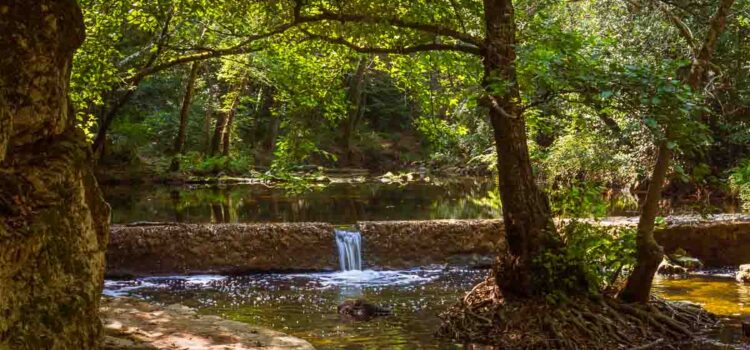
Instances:
[[[95,349],[109,207],[68,101],[74,0],[0,1],[0,349]]]

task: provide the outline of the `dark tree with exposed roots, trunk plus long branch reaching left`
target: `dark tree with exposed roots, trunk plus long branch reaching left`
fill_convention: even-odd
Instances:
[[[377,6],[366,3],[362,5]],[[443,4],[445,5],[445,4]],[[434,4],[433,4],[434,6]],[[354,7],[354,5],[352,5]],[[450,4],[447,4],[451,8]],[[433,9],[424,9],[434,11]],[[392,11],[392,9],[391,9]],[[448,10],[453,12],[453,10]],[[302,23],[331,21],[343,24],[363,23],[382,24],[409,31],[416,43],[395,43],[392,47],[367,46],[367,38],[357,34],[354,40],[365,42],[360,45],[345,36],[345,33],[315,32],[313,28],[302,31],[312,39],[323,40],[346,46],[360,53],[410,54],[423,51],[447,50],[476,55],[482,59],[484,77],[483,96],[493,126],[496,152],[498,154],[499,189],[503,202],[505,239],[507,254],[501,254],[503,261],[497,265],[497,282],[508,298],[542,296],[560,288],[544,278],[536,278],[543,271],[539,266],[543,254],[557,255],[563,247],[552,223],[548,199],[536,182],[531,167],[527,147],[526,124],[523,117],[519,85],[516,77],[516,26],[513,4],[509,0],[485,0],[474,14],[478,17],[475,31],[481,30],[483,38],[475,37],[461,30],[435,25],[419,20],[403,19],[379,15],[346,13],[328,10],[319,6],[314,14],[298,14]],[[389,13],[381,12],[371,13]],[[429,13],[429,12],[428,12]],[[477,21],[481,18],[481,21]],[[420,18],[421,19],[421,18]],[[313,27],[313,25],[310,25]],[[386,29],[384,29],[386,30]],[[354,32],[354,31],[353,31]],[[438,40],[442,38],[444,40]],[[419,40],[430,40],[424,43]],[[564,272],[563,272],[564,270]],[[579,280],[581,290],[588,290],[581,271],[571,266],[561,270],[567,277]],[[572,275],[573,277],[571,277]],[[579,277],[575,277],[579,276]],[[576,283],[571,284],[576,285]]]

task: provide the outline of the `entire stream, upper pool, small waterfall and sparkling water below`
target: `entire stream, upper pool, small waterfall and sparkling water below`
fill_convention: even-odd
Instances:
[[[113,222],[300,222],[347,224],[359,220],[497,218],[495,186],[482,179],[437,183],[331,184],[304,193],[263,185],[170,188],[110,187],[105,196]],[[605,201],[607,215],[632,216],[637,201],[619,196]],[[702,209],[697,210],[700,207]],[[708,208],[708,209],[706,209]],[[673,201],[668,214],[735,212],[729,204],[696,205]],[[367,242],[358,233],[337,233],[341,270],[330,273],[252,274],[244,276],[171,276],[108,280],[105,294],[135,296],[158,304],[182,303],[199,313],[269,327],[303,338],[317,349],[463,349],[464,344],[436,339],[438,315],[487,270],[424,266],[408,270],[359,270]],[[718,341],[739,345],[738,320],[750,316],[750,286],[734,281],[731,271],[657,277],[655,294],[691,301],[726,317],[728,330]],[[393,315],[368,322],[342,320],[336,306],[364,298],[392,309]]]

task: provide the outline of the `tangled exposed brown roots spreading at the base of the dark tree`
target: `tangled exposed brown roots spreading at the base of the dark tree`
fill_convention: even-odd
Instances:
[[[626,304],[608,296],[506,300],[493,279],[474,287],[442,316],[438,335],[502,349],[683,349],[718,325],[687,303]]]

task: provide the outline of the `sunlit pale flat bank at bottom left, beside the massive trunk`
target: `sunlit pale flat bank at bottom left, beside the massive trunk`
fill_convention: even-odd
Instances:
[[[131,298],[102,298],[106,350],[314,350],[302,339],[173,304],[159,307]]]

